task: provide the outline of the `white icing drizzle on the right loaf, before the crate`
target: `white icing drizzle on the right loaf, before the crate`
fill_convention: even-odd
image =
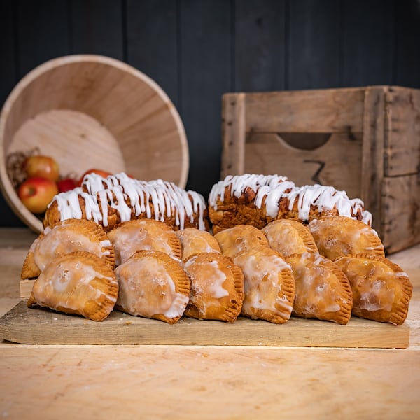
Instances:
[[[225,199],[225,191],[230,188],[230,193],[240,197],[246,188],[255,192],[254,204],[262,208],[265,204],[267,216],[275,218],[279,211],[279,202],[286,199],[289,202],[288,209],[292,210],[297,201],[297,211],[300,220],[309,220],[311,206],[317,207],[320,211],[337,209],[341,216],[356,218],[360,211],[363,222],[372,224],[372,214],[363,209],[363,201],[355,198],[350,200],[345,191],[336,190],[331,186],[297,187],[285,176],[279,175],[255,175],[244,174],[237,176],[226,176],[223,181],[216,183],[209,194],[209,205],[217,210],[217,201]]]

